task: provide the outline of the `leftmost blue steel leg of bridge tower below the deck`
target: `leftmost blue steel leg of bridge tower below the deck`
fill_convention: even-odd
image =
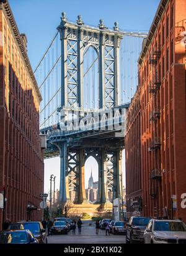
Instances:
[[[68,187],[68,166],[67,166],[67,148],[66,141],[56,145],[60,149],[60,202],[64,204],[69,201],[69,187]]]

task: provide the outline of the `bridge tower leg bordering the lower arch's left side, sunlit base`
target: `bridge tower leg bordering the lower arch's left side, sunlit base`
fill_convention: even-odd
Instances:
[[[82,204],[86,201],[86,191],[84,184],[84,163],[85,154],[84,149],[79,149],[79,191],[78,191],[78,204]]]

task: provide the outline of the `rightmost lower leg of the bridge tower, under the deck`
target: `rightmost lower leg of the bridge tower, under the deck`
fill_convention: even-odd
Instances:
[[[113,199],[122,198],[122,150],[115,151],[115,166],[113,169]]]

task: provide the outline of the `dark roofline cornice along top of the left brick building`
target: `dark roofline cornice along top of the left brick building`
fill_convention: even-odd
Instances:
[[[11,7],[9,5],[9,2],[7,0],[0,1],[2,2],[2,11],[4,12],[4,15],[6,16],[7,21],[9,22],[9,26],[11,27],[12,34],[15,37],[15,42],[17,46],[19,47],[20,53],[22,55],[22,59],[24,60],[25,67],[27,68],[27,71],[29,72],[30,78],[32,80],[33,86],[35,88],[35,92],[37,93],[37,97],[42,101],[42,95],[40,93],[40,90],[37,85],[37,81],[35,79],[35,75],[33,73],[29,57],[27,55],[27,50],[25,49],[24,43],[22,42],[22,39],[20,37],[19,29],[15,23],[14,16],[11,11]]]

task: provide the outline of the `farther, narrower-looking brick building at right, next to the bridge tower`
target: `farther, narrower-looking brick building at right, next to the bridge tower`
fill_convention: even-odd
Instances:
[[[141,211],[141,99],[140,88],[127,111],[126,117],[126,204],[128,212]],[[137,209],[136,209],[137,207]]]

